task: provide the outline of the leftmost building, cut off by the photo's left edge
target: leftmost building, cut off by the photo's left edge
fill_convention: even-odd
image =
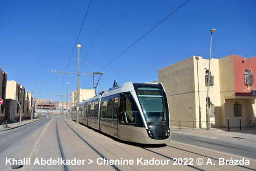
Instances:
[[[3,99],[0,105],[0,123],[6,120],[5,117],[5,104],[6,104],[6,83],[7,83],[7,73],[2,71],[0,67],[0,97]]]

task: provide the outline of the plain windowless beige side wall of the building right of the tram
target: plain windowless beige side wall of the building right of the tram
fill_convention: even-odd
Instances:
[[[195,78],[193,56],[158,70],[158,82],[165,87],[170,120],[195,121]]]

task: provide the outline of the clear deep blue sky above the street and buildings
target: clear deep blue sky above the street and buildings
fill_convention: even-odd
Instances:
[[[55,95],[66,95],[66,82],[69,95],[75,91],[77,75],[63,77],[51,71],[77,72],[76,43],[82,44],[80,58],[90,64],[80,60],[80,72],[99,72],[182,2],[93,0],[83,23],[89,0],[1,0],[0,66],[7,72],[7,80],[33,91],[34,97],[43,80],[37,98],[44,99],[47,93],[46,99],[61,101],[61,96]],[[255,7],[255,0],[190,0],[104,68],[97,92],[107,91],[114,80],[119,84],[153,82],[159,69],[193,55],[209,59],[212,28],[217,30],[212,58],[256,56]],[[89,75],[80,76],[80,87],[93,89]]]

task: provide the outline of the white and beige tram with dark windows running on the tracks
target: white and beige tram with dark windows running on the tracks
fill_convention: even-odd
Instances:
[[[77,107],[71,111],[76,120]],[[161,83],[131,83],[79,104],[79,122],[123,141],[169,143],[170,115]]]

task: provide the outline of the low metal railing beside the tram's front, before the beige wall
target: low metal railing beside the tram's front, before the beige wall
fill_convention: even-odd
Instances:
[[[193,130],[207,130],[207,121],[170,121],[171,129],[193,129]],[[210,122],[210,129],[217,129],[218,122]]]

